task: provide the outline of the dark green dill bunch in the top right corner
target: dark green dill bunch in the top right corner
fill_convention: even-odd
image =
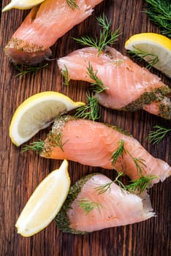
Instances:
[[[161,33],[171,37],[171,4],[170,0],[145,0],[148,4],[145,11],[150,20],[161,29]]]

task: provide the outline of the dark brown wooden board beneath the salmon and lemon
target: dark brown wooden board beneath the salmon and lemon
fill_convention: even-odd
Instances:
[[[2,6],[7,4],[2,1]],[[99,34],[95,17],[104,12],[113,23],[113,29],[121,27],[121,36],[115,48],[126,54],[124,42],[132,34],[153,31],[158,32],[144,12],[145,1],[142,0],[104,0],[94,10],[93,15],[80,25],[75,26],[64,37],[58,39],[53,45],[52,58],[64,56],[80,48],[70,37],[79,37],[83,34],[94,36]],[[52,222],[45,230],[31,238],[23,238],[15,229],[15,222],[20,211],[25,206],[28,197],[51,170],[56,169],[61,161],[42,159],[37,154],[27,152],[20,154],[20,148],[12,145],[9,139],[9,123],[15,109],[27,97],[40,91],[59,91],[74,100],[86,99],[86,83],[70,83],[67,91],[61,85],[61,77],[56,61],[48,62],[48,67],[35,75],[28,74],[16,77],[18,74],[13,64],[4,55],[3,48],[8,39],[22,23],[27,11],[11,10],[1,13],[1,52],[0,52],[0,89],[1,89],[1,176],[0,176],[0,255],[84,255],[84,256],[161,256],[171,255],[170,252],[170,179],[162,184],[156,184],[150,189],[151,203],[156,217],[148,221],[126,227],[114,227],[86,236],[76,236],[61,233]],[[170,80],[157,72],[164,83]],[[159,146],[152,146],[145,141],[145,136],[153,125],[170,126],[169,121],[153,116],[145,111],[124,113],[100,107],[101,118],[110,124],[127,129],[140,140],[143,146],[154,157],[164,159],[171,164],[170,138],[167,136]],[[34,137],[45,138],[47,131],[39,132]],[[72,184],[83,175],[92,171],[105,173],[110,178],[114,177],[111,170],[102,170],[69,162],[69,175]]]

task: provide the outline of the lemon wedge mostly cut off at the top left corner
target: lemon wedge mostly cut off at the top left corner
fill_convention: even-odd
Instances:
[[[26,10],[31,9],[37,4],[42,3],[42,1],[45,0],[12,0],[9,4],[2,9],[2,12],[6,12],[11,10],[12,8],[20,9],[20,10]]]

